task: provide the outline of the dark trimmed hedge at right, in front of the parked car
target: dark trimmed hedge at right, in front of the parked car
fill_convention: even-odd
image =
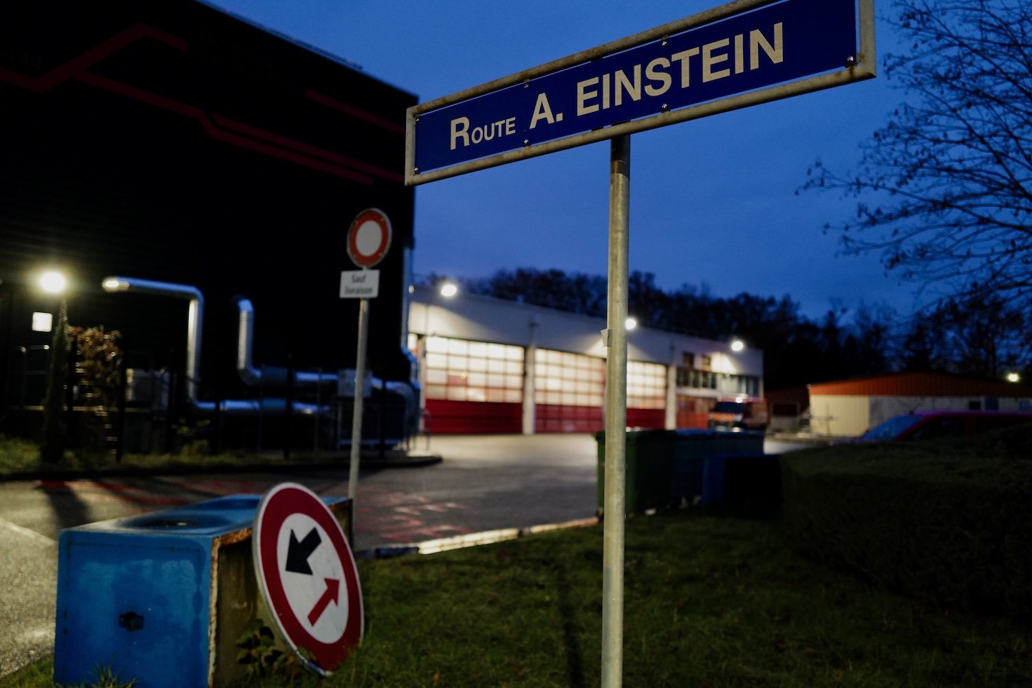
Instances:
[[[946,609],[1032,616],[1032,428],[782,455],[804,554]]]

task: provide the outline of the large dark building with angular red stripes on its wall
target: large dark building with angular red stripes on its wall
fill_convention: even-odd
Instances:
[[[296,417],[338,443],[359,308],[340,294],[357,269],[347,233],[380,208],[392,241],[369,299],[366,417],[368,434],[404,438],[416,101],[195,0],[2,3],[0,431],[38,422],[53,337],[38,314],[64,300],[70,325],[121,335],[125,405],[151,424],[253,449]],[[37,290],[45,269],[65,293]]]

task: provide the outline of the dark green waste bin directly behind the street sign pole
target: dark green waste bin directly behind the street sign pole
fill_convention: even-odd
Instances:
[[[599,445],[598,513],[606,500],[606,433],[594,433]],[[674,430],[627,430],[624,454],[624,510],[628,514],[666,509],[671,502],[677,433]]]

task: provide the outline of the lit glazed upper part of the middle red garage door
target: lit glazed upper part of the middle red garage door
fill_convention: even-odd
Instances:
[[[563,406],[601,406],[606,360],[539,349],[534,359],[535,401]]]

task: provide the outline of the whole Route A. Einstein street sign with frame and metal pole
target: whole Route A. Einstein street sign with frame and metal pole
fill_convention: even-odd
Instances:
[[[737,0],[410,107],[407,186],[611,139],[602,685],[621,685],[631,134],[876,74],[874,0]]]

